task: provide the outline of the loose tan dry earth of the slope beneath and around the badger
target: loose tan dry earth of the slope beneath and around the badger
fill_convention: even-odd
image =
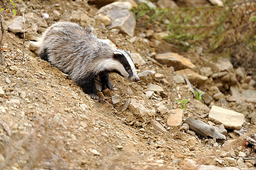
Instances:
[[[74,9],[86,10],[91,16],[97,10],[81,1],[24,3],[28,7],[26,12],[48,12],[48,25],[54,23],[53,10],[61,12],[60,20],[68,20]],[[9,18],[11,16],[5,20]],[[136,35],[139,36],[143,29],[137,27]],[[118,48],[140,53],[144,59],[149,56],[148,44],[140,39],[131,43],[128,36],[106,32],[100,27],[96,33],[100,38],[110,39]],[[11,136],[1,126],[0,165],[3,169],[193,169],[195,164],[237,167],[223,159],[227,157],[223,154],[230,156],[230,148],[255,157],[255,152],[240,142],[217,150],[213,147],[215,139],[201,138],[167,126],[169,113],[157,113],[156,116],[167,130],[164,132],[152,120],[141,121],[141,115],[129,108],[121,112],[130,98],[144,100],[149,108],[160,105],[160,101],[145,97],[146,84],[143,82],[127,82],[112,74],[115,94],[120,96],[119,104],[111,104],[114,93],[109,91],[104,92],[106,101],[91,100],[60,70],[28,50],[28,41],[23,58],[22,41],[19,34],[5,32],[3,56],[6,65],[0,66],[0,85],[5,95],[0,97],[0,118],[10,127]],[[193,98],[188,86],[173,82],[173,70],[145,61],[146,65],[138,67],[138,72],[154,70],[165,75],[168,84],[157,78],[152,82],[165,90],[167,96],[161,97],[158,92],[155,96],[166,108],[179,108],[175,103],[179,100],[178,95],[183,99]],[[187,107],[184,117],[200,118],[203,111],[190,103]],[[208,120],[204,118],[203,121]],[[224,162],[220,164],[217,159]],[[249,168],[255,168],[255,164],[249,163]]]

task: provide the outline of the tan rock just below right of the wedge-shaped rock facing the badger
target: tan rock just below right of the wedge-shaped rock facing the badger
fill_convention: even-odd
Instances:
[[[197,74],[190,69],[178,70],[176,71],[176,73],[181,75],[186,75],[188,80],[190,80],[191,84],[194,84],[195,86],[198,86],[198,87],[202,86],[208,79],[207,76]]]

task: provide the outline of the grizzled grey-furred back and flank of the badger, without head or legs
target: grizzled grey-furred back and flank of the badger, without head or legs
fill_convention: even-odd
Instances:
[[[74,80],[100,71],[97,61],[111,58],[113,49],[93,35],[92,27],[58,22],[38,42],[40,57],[70,74]],[[95,73],[98,74],[98,73]]]

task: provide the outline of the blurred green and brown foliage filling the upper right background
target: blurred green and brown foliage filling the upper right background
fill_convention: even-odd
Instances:
[[[170,31],[170,35],[165,37],[166,41],[183,49],[187,49],[184,41],[188,42],[188,47],[196,42],[207,42],[208,52],[223,52],[240,43],[253,47],[255,43],[251,41],[255,41],[253,22],[256,20],[256,1],[233,2],[226,1],[223,7],[154,9],[142,3],[131,11],[136,14],[136,19],[148,15],[145,25],[153,22],[165,25]]]

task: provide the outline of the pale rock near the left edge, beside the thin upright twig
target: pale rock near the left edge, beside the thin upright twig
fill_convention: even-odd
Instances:
[[[24,22],[22,16],[15,16],[10,22],[6,22],[8,30],[14,33],[24,32]]]

